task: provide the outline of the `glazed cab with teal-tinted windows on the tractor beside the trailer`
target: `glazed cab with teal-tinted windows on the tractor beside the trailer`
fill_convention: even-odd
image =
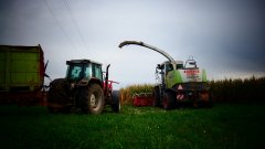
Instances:
[[[89,60],[71,60],[66,61],[66,78],[74,82],[89,81],[97,78],[103,82],[102,64]]]

